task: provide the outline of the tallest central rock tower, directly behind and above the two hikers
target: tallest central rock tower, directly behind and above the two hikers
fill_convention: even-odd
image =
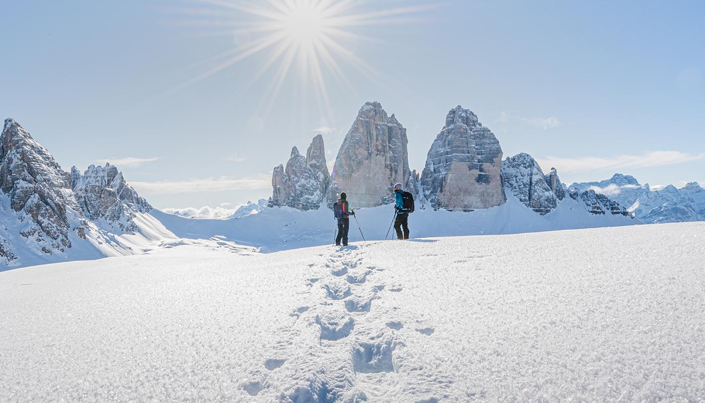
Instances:
[[[354,207],[393,203],[392,188],[410,178],[406,129],[379,102],[367,102],[343,140],[331,174],[329,205],[341,192]]]

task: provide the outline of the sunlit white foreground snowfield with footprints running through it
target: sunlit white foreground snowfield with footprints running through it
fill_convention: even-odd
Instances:
[[[2,272],[0,401],[701,402],[704,238],[181,246]]]

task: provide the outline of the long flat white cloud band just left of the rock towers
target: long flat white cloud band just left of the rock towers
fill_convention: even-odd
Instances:
[[[130,182],[140,193],[152,195],[172,195],[178,193],[238,191],[243,189],[271,188],[271,177],[264,174],[255,178],[218,178],[188,179],[185,181]]]

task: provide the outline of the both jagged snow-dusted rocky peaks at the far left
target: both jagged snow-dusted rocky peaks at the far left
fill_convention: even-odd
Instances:
[[[131,246],[118,245],[114,236],[137,231],[133,218],[149,210],[116,167],[63,172],[30,133],[6,119],[0,135],[0,263],[56,261],[76,249],[90,257],[127,254]]]

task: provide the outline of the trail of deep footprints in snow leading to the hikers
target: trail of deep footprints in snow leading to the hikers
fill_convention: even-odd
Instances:
[[[353,247],[336,249],[309,270],[309,300],[293,309],[295,322],[281,327],[271,358],[241,387],[279,402],[332,403],[376,400],[389,393],[383,385],[396,385],[416,390],[419,401],[434,401],[431,390],[450,381],[406,368],[402,334],[431,336],[434,327],[417,320],[405,329],[395,315],[398,307],[384,303],[388,293],[403,290],[375,279],[384,267],[367,265],[364,248]],[[408,383],[399,375],[406,369],[415,371],[413,385],[401,385]],[[434,385],[424,385],[429,382]]]

